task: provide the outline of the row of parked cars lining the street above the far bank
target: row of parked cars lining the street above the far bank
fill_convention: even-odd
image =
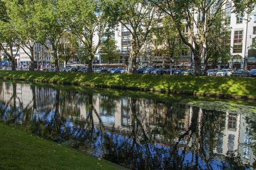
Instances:
[[[87,72],[87,68],[62,68],[60,71],[67,72]],[[126,69],[123,68],[93,68],[93,72],[96,73],[125,73]],[[131,71],[131,69],[130,69]],[[194,69],[184,69],[184,68],[139,68],[137,69],[138,74],[172,74],[173,75],[195,75]],[[204,74],[204,69],[201,69],[202,74]],[[239,77],[256,77],[256,69],[251,71],[239,69],[233,71],[232,69],[209,69],[207,70],[207,76],[239,76]]]

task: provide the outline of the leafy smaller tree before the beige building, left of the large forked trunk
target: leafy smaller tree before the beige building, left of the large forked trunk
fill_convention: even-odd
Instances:
[[[182,42],[171,17],[165,17],[162,20],[162,24],[163,26],[154,30],[156,36],[154,45],[156,49],[154,51],[158,54],[169,56],[170,61],[173,61],[180,57],[182,51],[188,51],[188,46]],[[188,32],[188,27],[185,24],[182,29],[185,33]]]

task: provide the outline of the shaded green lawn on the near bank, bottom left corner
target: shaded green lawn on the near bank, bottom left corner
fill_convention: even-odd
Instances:
[[[117,170],[55,142],[0,123],[1,170]]]

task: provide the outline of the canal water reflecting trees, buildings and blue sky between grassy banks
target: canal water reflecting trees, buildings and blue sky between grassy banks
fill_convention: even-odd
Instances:
[[[254,169],[255,105],[0,80],[0,122],[136,170]]]

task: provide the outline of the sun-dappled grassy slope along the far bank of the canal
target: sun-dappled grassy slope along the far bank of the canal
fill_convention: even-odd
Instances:
[[[0,71],[0,77],[256,96],[256,79],[247,77],[195,77],[37,71]]]

